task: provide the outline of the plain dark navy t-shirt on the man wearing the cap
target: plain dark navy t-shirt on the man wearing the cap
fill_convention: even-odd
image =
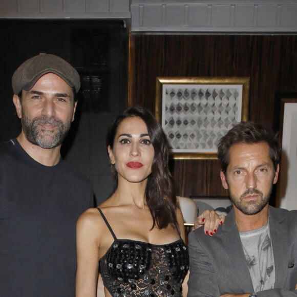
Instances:
[[[0,145],[0,297],[75,295],[76,220],[89,207],[90,181],[65,161]]]

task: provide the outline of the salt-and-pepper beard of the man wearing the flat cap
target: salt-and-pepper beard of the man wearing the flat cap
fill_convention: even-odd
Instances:
[[[40,132],[40,126],[42,124],[54,125],[57,131],[44,131]],[[71,120],[62,122],[53,117],[47,118],[42,116],[40,118],[30,119],[22,113],[22,128],[26,135],[26,138],[32,144],[38,145],[43,149],[53,149],[60,145],[67,135],[71,125]],[[44,135],[43,135],[44,134]]]

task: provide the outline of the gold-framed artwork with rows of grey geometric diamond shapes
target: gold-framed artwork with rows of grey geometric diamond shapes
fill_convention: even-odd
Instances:
[[[217,159],[218,141],[248,120],[249,77],[157,77],[156,112],[174,159]]]

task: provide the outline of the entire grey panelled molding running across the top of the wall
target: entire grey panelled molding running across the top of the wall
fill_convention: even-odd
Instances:
[[[0,0],[0,18],[131,19],[133,32],[296,33],[297,0]]]

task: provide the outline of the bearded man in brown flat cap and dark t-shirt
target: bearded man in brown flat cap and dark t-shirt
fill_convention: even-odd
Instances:
[[[16,69],[12,88],[22,132],[0,145],[0,296],[74,296],[76,220],[94,206],[90,181],[60,157],[79,75],[39,54]]]

